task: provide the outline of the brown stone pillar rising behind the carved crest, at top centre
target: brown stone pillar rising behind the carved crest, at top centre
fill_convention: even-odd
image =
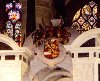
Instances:
[[[43,25],[42,20],[45,25],[49,25],[50,21],[50,1],[49,0],[35,0],[35,18],[36,18],[36,28],[38,25]]]

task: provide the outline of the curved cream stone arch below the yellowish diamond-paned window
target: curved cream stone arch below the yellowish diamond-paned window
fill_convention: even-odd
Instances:
[[[72,48],[80,47],[83,43],[89,39],[96,38],[97,34],[100,33],[100,28],[91,29],[79,35],[71,44]]]

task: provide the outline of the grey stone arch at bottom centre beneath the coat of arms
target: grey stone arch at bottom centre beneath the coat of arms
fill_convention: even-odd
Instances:
[[[45,67],[41,69],[40,71],[38,71],[33,76],[31,81],[48,81],[48,79],[53,78],[53,77],[56,77],[56,79],[60,79],[63,77],[72,79],[72,73],[60,67],[56,67],[56,68]]]

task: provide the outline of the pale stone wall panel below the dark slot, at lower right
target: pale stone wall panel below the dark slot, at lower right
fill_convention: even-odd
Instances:
[[[94,81],[93,62],[88,59],[73,60],[73,81]]]

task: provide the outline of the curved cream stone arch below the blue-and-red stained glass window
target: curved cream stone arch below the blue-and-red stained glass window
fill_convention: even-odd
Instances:
[[[17,45],[16,42],[14,42],[13,39],[0,34],[0,42],[5,43],[6,45],[10,46],[13,50],[17,50],[19,48],[19,46]]]

